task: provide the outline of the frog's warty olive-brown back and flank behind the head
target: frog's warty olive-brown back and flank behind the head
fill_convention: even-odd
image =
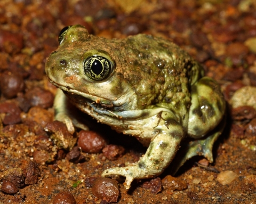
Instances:
[[[123,45],[125,59],[133,64],[126,79],[142,96],[142,103],[183,109],[185,114],[190,86],[204,75],[202,67],[179,46],[162,38],[140,34],[126,38]]]

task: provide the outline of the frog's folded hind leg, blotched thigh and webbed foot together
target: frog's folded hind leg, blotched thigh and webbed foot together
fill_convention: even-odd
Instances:
[[[188,137],[193,141],[181,144],[177,157],[172,162],[173,173],[186,160],[197,155],[213,162],[212,146],[225,126],[225,113],[226,102],[215,80],[203,77],[191,87]]]

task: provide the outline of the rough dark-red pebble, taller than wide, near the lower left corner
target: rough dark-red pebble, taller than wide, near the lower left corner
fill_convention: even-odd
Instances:
[[[32,184],[36,184],[38,182],[40,170],[38,168],[38,165],[35,162],[29,161],[28,166],[23,171],[23,173],[25,175],[25,184],[26,185],[32,185]]]

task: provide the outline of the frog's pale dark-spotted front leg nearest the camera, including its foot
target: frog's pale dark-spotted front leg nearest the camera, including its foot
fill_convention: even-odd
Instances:
[[[134,179],[151,178],[161,174],[174,158],[184,135],[178,122],[163,129],[151,140],[145,155],[134,166],[110,168],[105,170],[102,176],[124,176],[125,187],[129,189]]]

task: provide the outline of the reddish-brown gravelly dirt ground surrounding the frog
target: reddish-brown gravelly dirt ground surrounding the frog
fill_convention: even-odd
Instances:
[[[256,111],[246,101],[229,105],[213,164],[197,157],[175,178],[166,169],[126,191],[123,178],[100,174],[138,161],[146,149],[91,118],[93,132],[77,129],[81,148],[58,149],[54,138],[70,135],[52,123],[56,88],[44,71],[67,25],[107,38],[151,34],[201,62],[230,103],[237,89],[256,85],[255,10],[253,0],[1,0],[0,203],[256,203]]]

